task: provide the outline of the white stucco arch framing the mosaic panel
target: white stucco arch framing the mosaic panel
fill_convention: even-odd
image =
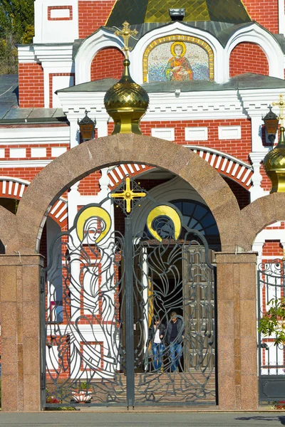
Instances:
[[[140,38],[133,51],[130,52],[130,73],[131,75],[135,75],[135,81],[137,83],[143,83],[142,58],[147,46],[149,46],[156,38],[172,36],[177,33],[184,36],[201,38],[203,41],[207,42],[214,53],[214,81],[217,83],[223,83],[227,80],[224,77],[224,49],[217,38],[215,38],[211,33],[203,31],[200,28],[187,26],[185,23],[181,23],[180,21],[173,21],[166,26],[155,28],[155,30],[146,33],[142,38]]]

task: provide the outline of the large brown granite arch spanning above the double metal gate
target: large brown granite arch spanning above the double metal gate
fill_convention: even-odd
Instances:
[[[19,203],[16,215],[22,251],[36,251],[36,241],[48,206],[63,191],[96,169],[124,162],[167,169],[192,185],[212,211],[223,251],[234,251],[239,206],[224,179],[185,147],[163,139],[133,134],[85,142],[55,159],[33,179]]]

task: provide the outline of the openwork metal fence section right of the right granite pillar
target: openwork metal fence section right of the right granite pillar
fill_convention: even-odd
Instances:
[[[259,318],[269,307],[278,304],[285,296],[284,260],[276,259],[261,263],[258,268]],[[282,327],[280,322],[280,327]],[[285,353],[284,344],[274,345],[275,334],[263,337],[259,333],[259,399],[260,401],[285,400]]]

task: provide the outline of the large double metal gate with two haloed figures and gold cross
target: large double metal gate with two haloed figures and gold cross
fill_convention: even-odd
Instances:
[[[44,406],[216,404],[213,268],[175,206],[127,178],[56,238],[42,290]]]

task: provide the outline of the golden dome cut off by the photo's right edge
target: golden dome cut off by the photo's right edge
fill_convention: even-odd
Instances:
[[[264,169],[272,183],[270,193],[285,193],[285,138],[284,127],[280,127],[279,142],[264,157]]]

